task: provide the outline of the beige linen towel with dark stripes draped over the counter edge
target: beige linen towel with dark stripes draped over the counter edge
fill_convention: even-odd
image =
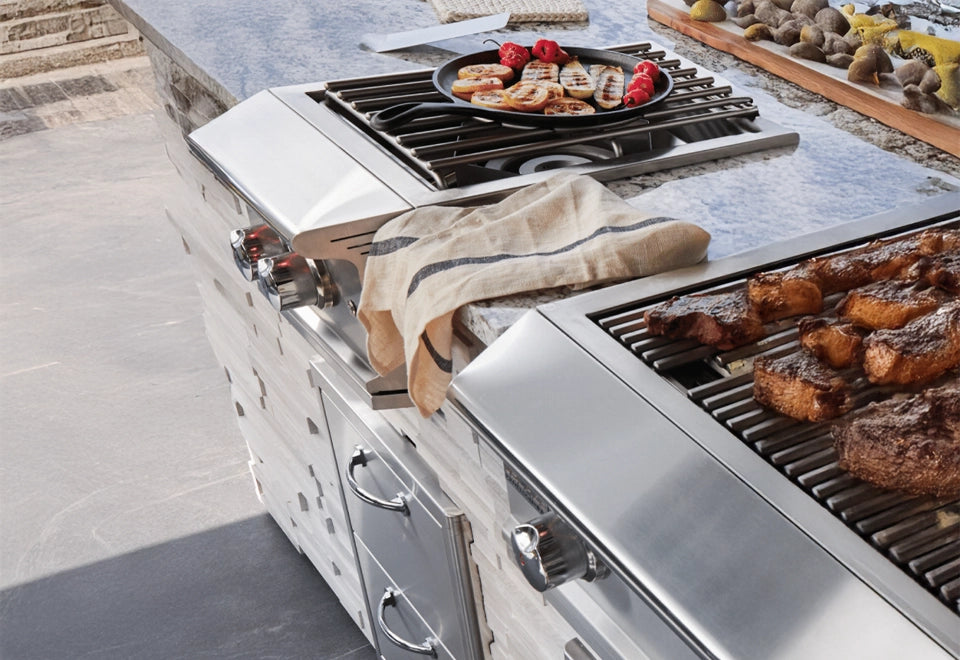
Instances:
[[[710,235],[652,217],[585,175],[562,173],[491,206],[428,206],[383,225],[367,257],[357,316],[381,374],[406,363],[424,417],[452,377],[453,315],[469,302],[585,287],[694,264]]]

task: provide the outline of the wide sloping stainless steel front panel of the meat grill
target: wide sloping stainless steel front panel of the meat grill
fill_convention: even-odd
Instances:
[[[542,392],[544,382],[558,386],[538,406],[516,405]],[[715,428],[694,428],[702,425],[691,423],[697,415],[689,402],[658,409],[637,395],[650,389],[672,388],[645,382],[635,389],[611,378],[606,366],[531,312],[454,379],[451,395],[696,653],[947,656],[820,545],[833,537],[814,541],[692,442]],[[679,395],[664,392],[664,398],[671,394]],[[609,497],[597,479],[630,488]]]

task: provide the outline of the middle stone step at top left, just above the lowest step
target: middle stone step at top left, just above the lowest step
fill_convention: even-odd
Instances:
[[[129,24],[104,5],[0,23],[0,55],[126,34]]]

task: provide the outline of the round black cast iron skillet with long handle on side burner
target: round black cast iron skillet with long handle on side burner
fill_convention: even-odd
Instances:
[[[633,77],[633,67],[640,60],[632,55],[616,53],[596,48],[564,48],[571,57],[580,58],[584,68],[589,69],[591,64],[607,64],[619,66],[623,69],[624,85],[630,84]],[[370,125],[376,130],[397,128],[415,117],[425,117],[440,114],[470,115],[496,119],[504,124],[517,126],[541,126],[546,128],[575,128],[580,126],[599,126],[611,124],[641,116],[645,109],[654,103],[662,101],[673,89],[673,78],[666,71],[661,70],[660,79],[654,85],[653,96],[641,105],[626,107],[621,105],[613,110],[597,111],[591,115],[545,115],[534,112],[516,112],[513,110],[496,110],[474,105],[469,101],[457,98],[450,91],[453,82],[457,79],[457,72],[470,64],[489,64],[499,62],[500,57],[496,50],[486,50],[469,55],[461,55],[441,64],[433,72],[433,86],[438,92],[450,99],[446,102],[400,103],[384,108],[370,118]],[[515,78],[514,80],[518,80]],[[509,87],[512,82],[508,82]],[[592,102],[592,99],[588,99]]]

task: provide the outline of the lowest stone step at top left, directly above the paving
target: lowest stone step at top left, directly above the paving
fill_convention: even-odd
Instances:
[[[70,43],[55,48],[0,55],[0,81],[82,64],[107,62],[145,53],[140,35],[127,34]]]

